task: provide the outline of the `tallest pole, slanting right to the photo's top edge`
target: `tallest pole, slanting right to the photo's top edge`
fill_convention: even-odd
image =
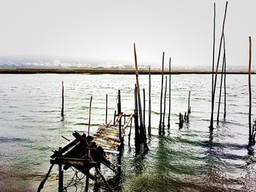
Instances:
[[[214,79],[214,91],[213,91],[213,95],[212,95],[212,111],[211,111],[210,131],[213,131],[213,129],[214,129],[214,127],[213,127],[214,96],[215,96],[216,85],[217,85],[217,74],[218,74],[218,69],[219,69],[219,58],[220,58],[220,53],[221,53],[221,49],[222,49],[222,40],[223,40],[225,20],[226,20],[226,15],[227,15],[227,4],[228,4],[228,2],[226,1],[225,15],[224,15],[223,23],[222,23],[222,37],[220,38],[220,43],[219,43],[219,53],[218,53],[217,66],[216,66],[215,79]]]

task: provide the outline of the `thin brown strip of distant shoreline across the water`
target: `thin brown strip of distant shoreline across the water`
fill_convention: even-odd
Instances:
[[[169,74],[165,70],[165,74]],[[219,72],[221,73],[221,72]],[[0,69],[0,74],[135,74],[130,69]],[[139,74],[148,74],[148,70],[139,70]],[[151,70],[151,74],[162,74],[162,70]],[[171,70],[171,74],[211,74],[209,70]],[[232,70],[227,74],[248,74],[246,71]],[[256,74],[256,71],[252,71]]]

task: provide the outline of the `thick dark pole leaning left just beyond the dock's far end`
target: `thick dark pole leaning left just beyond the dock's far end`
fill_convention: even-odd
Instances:
[[[133,44],[133,50],[134,50],[134,55],[135,55],[135,74],[136,74],[138,106],[139,106],[139,114],[140,114],[140,136],[143,141],[144,149],[148,150],[148,145],[146,143],[146,128],[143,127],[143,117],[142,117],[141,102],[140,102],[139,73],[138,73],[138,63],[137,63],[137,54],[136,54],[135,43]]]

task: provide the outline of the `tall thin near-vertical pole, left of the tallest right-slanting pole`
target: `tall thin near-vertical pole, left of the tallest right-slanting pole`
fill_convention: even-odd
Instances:
[[[216,8],[214,3],[214,45],[212,54],[212,72],[211,72],[211,120],[210,120],[210,131],[214,130],[214,58],[215,58],[215,19],[216,19]]]

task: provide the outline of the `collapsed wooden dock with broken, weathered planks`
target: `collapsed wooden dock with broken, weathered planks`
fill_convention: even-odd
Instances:
[[[64,147],[59,147],[59,150],[55,150],[53,155],[50,156],[51,166],[49,172],[45,180],[40,183],[38,191],[42,190],[53,165],[59,166],[59,191],[64,190],[64,170],[69,169],[71,166],[86,175],[86,191],[88,191],[89,179],[97,180],[98,178],[102,178],[111,191],[110,185],[108,185],[102,172],[100,172],[100,166],[104,164],[113,172],[117,174],[120,172],[121,146],[123,145],[126,128],[134,114],[124,115],[123,112],[120,112],[115,116],[117,116],[117,119],[113,125],[104,124],[99,126],[93,137],[86,136],[84,133],[79,134],[75,131],[72,134],[75,137],[72,142],[69,142]],[[124,125],[121,125],[123,116],[128,118],[125,120]],[[113,164],[110,161],[110,154],[118,156],[117,164]],[[94,169],[94,174],[90,172],[91,169]]]

